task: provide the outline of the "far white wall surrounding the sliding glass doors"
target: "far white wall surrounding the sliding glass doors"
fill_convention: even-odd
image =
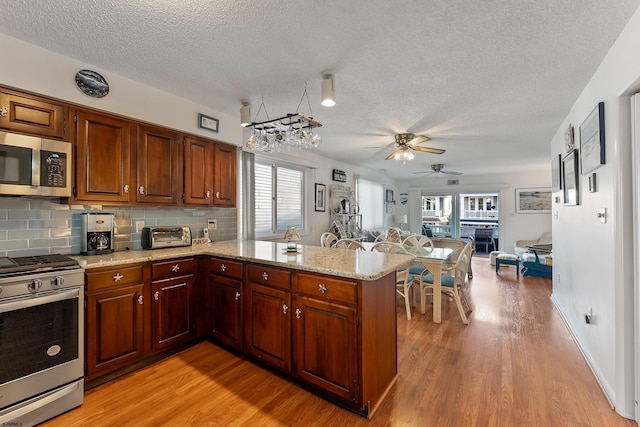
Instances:
[[[517,240],[531,240],[540,237],[545,231],[551,231],[551,214],[517,214],[516,188],[551,187],[551,159],[549,167],[542,170],[529,170],[517,174],[491,174],[458,176],[458,185],[447,185],[442,177],[403,181],[397,186],[400,192],[409,192],[409,203],[402,206],[398,213],[408,213],[410,228],[420,232],[420,191],[442,192],[498,192],[500,250],[513,252],[513,244]],[[554,203],[554,209],[556,208]]]

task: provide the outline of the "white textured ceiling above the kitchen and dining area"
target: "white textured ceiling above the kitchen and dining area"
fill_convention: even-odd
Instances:
[[[549,141],[640,0],[32,0],[0,33],[238,116],[323,123],[320,154],[395,178],[550,164]],[[322,72],[337,105],[320,105]],[[259,117],[264,119],[265,117]],[[443,155],[384,158],[399,132]],[[238,141],[238,143],[240,143]],[[371,148],[377,147],[377,148]]]

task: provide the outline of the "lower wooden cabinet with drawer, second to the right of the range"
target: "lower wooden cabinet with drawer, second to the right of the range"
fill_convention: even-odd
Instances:
[[[194,270],[194,258],[151,265],[152,351],[167,350],[195,337]]]

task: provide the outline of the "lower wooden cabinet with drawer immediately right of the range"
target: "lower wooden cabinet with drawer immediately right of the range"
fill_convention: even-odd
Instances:
[[[85,273],[87,379],[133,364],[144,355],[142,265]]]

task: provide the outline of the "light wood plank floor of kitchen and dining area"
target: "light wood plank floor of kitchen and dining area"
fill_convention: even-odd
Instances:
[[[549,280],[474,258],[465,326],[443,301],[405,318],[399,378],[372,420],[209,342],[86,393],[46,426],[636,426],[609,406],[550,301]]]

